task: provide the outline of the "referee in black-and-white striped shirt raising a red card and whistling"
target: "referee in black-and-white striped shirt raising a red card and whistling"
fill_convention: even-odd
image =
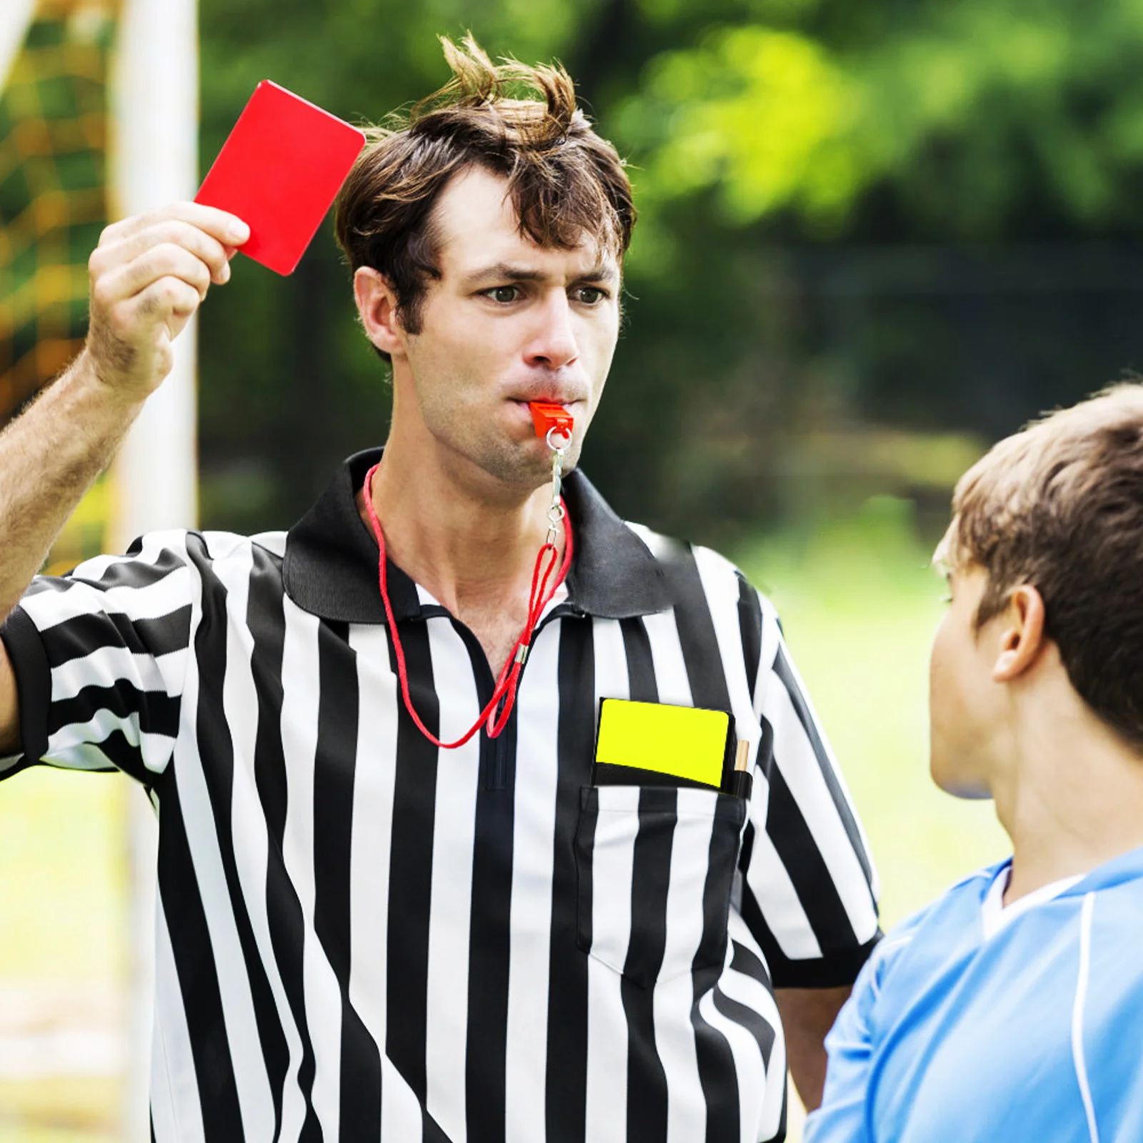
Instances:
[[[118,769],[155,806],[158,1143],[781,1138],[878,937],[870,857],[741,574],[577,471],[549,531],[529,405],[574,418],[574,470],[631,189],[562,70],[446,55],[337,205],[387,442],[289,531],[34,576],[248,231],[181,203],[102,235],[86,347],[0,438],[0,777]],[[602,700],[726,712],[752,793],[671,749],[600,784]]]

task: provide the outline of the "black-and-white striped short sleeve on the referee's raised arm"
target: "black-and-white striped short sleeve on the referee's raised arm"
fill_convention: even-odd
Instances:
[[[16,674],[22,752],[37,762],[123,770],[151,784],[170,760],[190,654],[194,574],[184,531],[126,555],[38,576],[2,629]]]

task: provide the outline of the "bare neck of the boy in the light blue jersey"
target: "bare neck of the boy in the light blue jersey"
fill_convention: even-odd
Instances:
[[[1025,712],[993,791],[1013,842],[1005,903],[1143,846],[1143,758],[1078,696]]]

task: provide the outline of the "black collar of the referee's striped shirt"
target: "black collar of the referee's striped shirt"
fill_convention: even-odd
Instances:
[[[345,461],[329,487],[286,537],[282,580],[298,607],[323,620],[384,623],[377,586],[377,542],[358,513],[354,496],[381,459],[379,448]],[[575,552],[568,602],[588,615],[623,620],[670,607],[664,568],[580,472],[563,481]],[[389,599],[400,621],[421,615],[413,581],[392,560]]]

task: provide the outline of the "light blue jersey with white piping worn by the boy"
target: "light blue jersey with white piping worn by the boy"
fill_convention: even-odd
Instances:
[[[1008,864],[873,952],[805,1143],[1143,1141],[1143,848],[997,924]]]

